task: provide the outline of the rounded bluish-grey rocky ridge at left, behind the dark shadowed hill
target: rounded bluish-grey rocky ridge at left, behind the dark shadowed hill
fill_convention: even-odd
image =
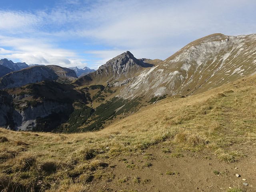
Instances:
[[[76,78],[76,73],[68,68],[54,65],[32,66],[23,70],[12,72],[0,78],[0,89],[15,88],[46,80],[71,82]]]

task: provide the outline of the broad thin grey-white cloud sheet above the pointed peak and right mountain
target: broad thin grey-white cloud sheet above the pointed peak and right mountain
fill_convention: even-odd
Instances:
[[[91,10],[91,14],[98,12],[99,26],[76,33],[93,37],[108,46],[131,50],[138,57],[165,59],[174,50],[208,34],[221,32],[237,35],[255,32],[255,14],[253,17],[244,13],[248,10],[248,5],[255,7],[256,2],[114,1]],[[252,13],[252,10],[249,12]],[[104,59],[100,62],[112,56],[112,52],[103,50],[102,53],[101,57]]]

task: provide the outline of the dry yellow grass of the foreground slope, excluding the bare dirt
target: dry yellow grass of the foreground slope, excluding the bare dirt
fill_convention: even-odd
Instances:
[[[250,156],[242,145],[256,142],[255,84],[253,76],[188,98],[166,98],[98,132],[50,134],[0,129],[0,190],[104,191],[106,183],[122,189],[129,177],[115,179],[116,160],[130,170],[137,165],[124,157],[137,154],[153,160],[147,154],[152,146],[165,153],[172,148],[170,158],[180,158],[189,151],[214,154],[219,162],[242,160]],[[142,170],[148,167],[154,168],[154,164],[140,166]],[[175,175],[179,173],[167,170],[165,174]],[[130,191],[136,191],[134,184],[144,188],[150,183],[130,177],[132,183],[126,186]]]

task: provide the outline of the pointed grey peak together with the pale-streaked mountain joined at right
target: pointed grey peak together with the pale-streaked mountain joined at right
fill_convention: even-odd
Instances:
[[[254,74],[255,67],[256,34],[212,34],[191,42],[164,61],[138,60],[130,52],[123,53],[74,84],[108,85],[116,87],[121,98],[150,100],[204,92]]]

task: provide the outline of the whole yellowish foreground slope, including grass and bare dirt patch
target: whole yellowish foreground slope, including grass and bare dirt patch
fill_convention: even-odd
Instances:
[[[255,84],[166,98],[98,132],[0,129],[0,190],[253,191]]]

